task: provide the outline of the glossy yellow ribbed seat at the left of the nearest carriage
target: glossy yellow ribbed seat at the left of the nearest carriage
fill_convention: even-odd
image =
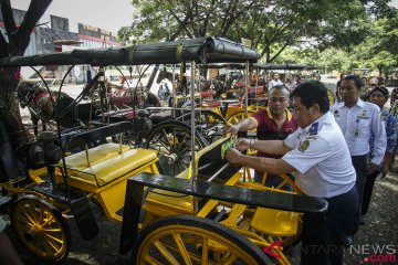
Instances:
[[[157,160],[157,151],[105,144],[65,158],[66,170],[74,180],[106,186],[133,170]]]

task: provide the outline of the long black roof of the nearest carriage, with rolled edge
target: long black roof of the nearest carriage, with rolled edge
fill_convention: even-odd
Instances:
[[[38,65],[137,65],[176,64],[181,61],[198,63],[255,62],[259,54],[237,42],[220,38],[198,38],[172,42],[138,44],[135,46],[73,50],[71,52],[11,56],[0,59],[0,66]]]

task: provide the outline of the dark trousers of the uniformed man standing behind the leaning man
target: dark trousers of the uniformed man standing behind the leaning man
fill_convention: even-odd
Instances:
[[[353,220],[350,227],[347,231],[347,234],[354,235],[359,230],[359,218],[360,218],[360,210],[362,210],[365,181],[366,181],[367,157],[366,156],[353,156],[352,161],[353,161],[353,166],[355,168],[355,172],[357,176],[356,181],[355,181],[355,187],[358,192],[358,208],[355,211],[354,220]]]

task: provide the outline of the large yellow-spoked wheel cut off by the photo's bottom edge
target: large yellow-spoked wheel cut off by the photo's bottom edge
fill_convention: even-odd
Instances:
[[[189,215],[159,219],[144,229],[132,257],[137,264],[271,264],[243,235]]]

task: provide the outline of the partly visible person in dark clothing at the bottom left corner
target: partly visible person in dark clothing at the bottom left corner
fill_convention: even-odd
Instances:
[[[3,232],[6,227],[4,220],[0,216],[0,264],[1,265],[22,265],[15,248],[10,239]]]

